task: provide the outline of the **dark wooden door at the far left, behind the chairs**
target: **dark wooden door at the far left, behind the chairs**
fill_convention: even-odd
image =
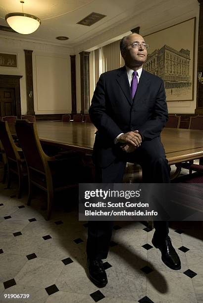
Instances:
[[[16,116],[14,88],[0,88],[0,116]]]

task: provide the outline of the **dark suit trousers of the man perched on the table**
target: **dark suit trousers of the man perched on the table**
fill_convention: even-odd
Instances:
[[[96,165],[97,183],[122,183],[126,162],[142,166],[143,183],[170,183],[170,170],[165,151],[159,137],[144,141],[135,152],[123,152],[109,166]],[[168,235],[167,221],[154,221],[154,237],[159,241]],[[113,221],[89,221],[87,255],[93,259],[105,259],[113,230]]]

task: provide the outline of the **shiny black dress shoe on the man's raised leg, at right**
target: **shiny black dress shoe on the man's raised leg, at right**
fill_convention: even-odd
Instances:
[[[171,239],[167,236],[163,241],[157,241],[152,238],[152,244],[155,248],[158,248],[161,252],[161,260],[163,263],[171,269],[181,269],[181,262],[178,254],[172,246]]]

